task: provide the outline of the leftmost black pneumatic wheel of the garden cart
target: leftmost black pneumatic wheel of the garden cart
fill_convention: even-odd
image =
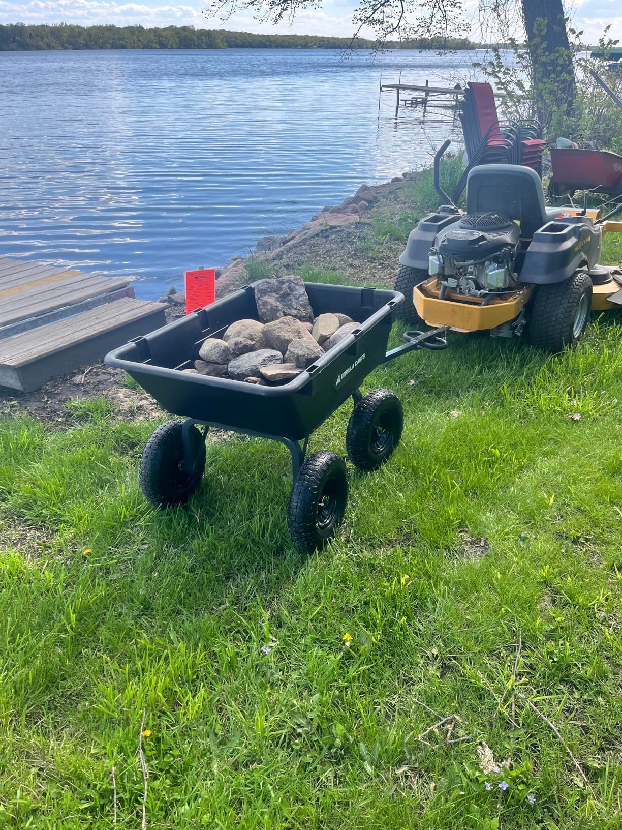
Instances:
[[[197,489],[205,470],[205,443],[197,427],[190,427],[188,439],[194,467],[183,469],[183,421],[167,421],[149,438],[138,468],[138,481],[145,498],[155,507],[185,503]]]

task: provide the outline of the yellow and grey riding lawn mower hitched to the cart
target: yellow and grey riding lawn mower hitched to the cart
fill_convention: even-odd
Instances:
[[[466,211],[439,183],[447,204],[423,218],[400,257],[396,291],[406,301],[397,316],[408,323],[454,331],[488,330],[520,336],[550,352],[575,346],[590,311],[622,308],[622,271],[598,264],[602,237],[622,232],[611,218],[576,207],[547,207],[542,182],[517,164],[474,167]]]

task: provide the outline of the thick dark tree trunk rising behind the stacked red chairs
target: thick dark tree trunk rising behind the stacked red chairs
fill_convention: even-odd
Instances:
[[[576,79],[561,0],[522,0],[537,116],[550,127],[555,115],[572,118]]]

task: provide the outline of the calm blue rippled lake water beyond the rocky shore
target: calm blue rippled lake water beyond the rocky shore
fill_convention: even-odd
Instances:
[[[363,183],[450,125],[378,86],[469,76],[476,53],[0,52],[0,255],[130,275],[157,297]]]

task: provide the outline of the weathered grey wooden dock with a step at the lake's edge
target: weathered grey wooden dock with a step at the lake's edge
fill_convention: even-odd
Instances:
[[[128,279],[0,256],[0,387],[29,392],[164,325]]]

